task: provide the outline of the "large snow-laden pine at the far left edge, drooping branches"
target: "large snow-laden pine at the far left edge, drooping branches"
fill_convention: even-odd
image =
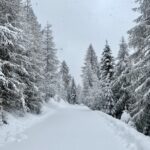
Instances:
[[[40,99],[32,76],[34,65],[27,54],[30,36],[24,30],[26,13],[21,0],[0,2],[1,24],[1,70],[4,78],[1,92],[4,110],[40,112]],[[7,8],[7,9],[6,9]],[[33,56],[33,55],[32,55]]]

